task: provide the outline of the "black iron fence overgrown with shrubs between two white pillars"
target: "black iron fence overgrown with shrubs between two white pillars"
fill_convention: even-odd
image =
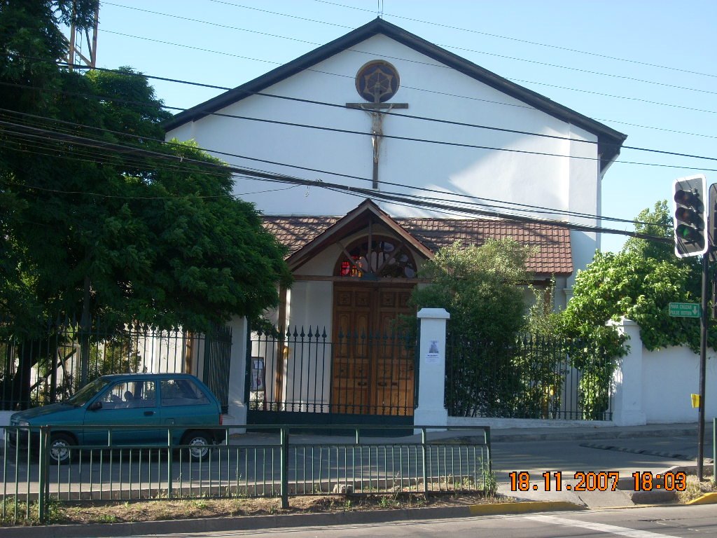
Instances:
[[[455,417],[611,420],[613,371],[587,342],[523,335],[496,346],[452,335],[445,404]]]

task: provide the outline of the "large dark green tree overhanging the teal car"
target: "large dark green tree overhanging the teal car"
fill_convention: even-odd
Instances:
[[[192,331],[259,317],[290,282],[285,251],[226,166],[163,143],[146,77],[57,65],[85,4],[0,1],[0,326],[32,340],[58,314]]]

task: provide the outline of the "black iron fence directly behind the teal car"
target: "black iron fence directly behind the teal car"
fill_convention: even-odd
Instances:
[[[189,372],[206,379],[227,405],[232,334],[161,331],[143,324],[123,328],[92,324],[82,330],[66,319],[47,325],[42,338],[0,339],[0,410],[62,402],[100,375]]]

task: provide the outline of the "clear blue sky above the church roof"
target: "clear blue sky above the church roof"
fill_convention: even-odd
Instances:
[[[717,158],[714,0],[112,0],[98,66],[233,88],[366,24],[381,4],[386,21],[627,134],[627,146]],[[221,93],[152,83],[174,107]],[[602,214],[632,219],[670,199],[681,176],[717,182],[706,169],[717,160],[623,149]],[[604,235],[603,250],[624,240]]]

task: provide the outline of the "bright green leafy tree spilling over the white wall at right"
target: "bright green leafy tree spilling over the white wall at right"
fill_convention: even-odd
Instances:
[[[668,303],[701,301],[698,258],[677,258],[672,247],[672,217],[667,202],[657,202],[636,220],[636,230],[668,241],[630,238],[617,253],[597,253],[576,276],[573,297],[563,313],[564,331],[589,337],[609,354],[625,354],[625,341],[609,326],[625,316],[640,325],[647,349],[688,345],[699,347],[699,323],[668,315]]]

